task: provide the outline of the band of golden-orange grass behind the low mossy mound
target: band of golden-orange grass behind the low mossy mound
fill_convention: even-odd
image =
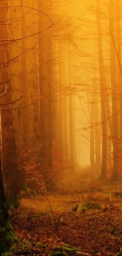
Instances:
[[[81,191],[80,191],[81,190]],[[114,192],[120,192],[121,198],[114,197]],[[60,193],[25,197],[20,200],[20,209],[25,211],[62,213],[71,210],[80,202],[98,203],[105,207],[113,203],[122,210],[122,184],[101,185],[100,182],[90,182],[86,186],[61,189]]]

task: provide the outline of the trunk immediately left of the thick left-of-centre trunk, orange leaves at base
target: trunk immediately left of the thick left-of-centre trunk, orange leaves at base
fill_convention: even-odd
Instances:
[[[27,1],[28,2],[28,1]],[[28,3],[26,4],[28,5]],[[33,6],[33,1],[31,1],[31,6]],[[30,7],[31,7],[30,6]],[[35,1],[35,8],[37,9],[37,1]],[[27,15],[26,15],[27,16]],[[34,34],[38,31],[38,19],[37,19],[37,11],[31,10],[29,15],[27,16],[28,20],[31,20],[33,26],[29,26],[28,28],[28,35]],[[26,20],[26,22],[28,21]],[[35,35],[34,37],[29,38],[28,40],[28,48],[33,48],[28,52],[28,85],[31,87],[31,102],[37,101],[35,104],[31,105],[31,150],[32,150],[32,181],[30,182],[30,186],[35,189],[35,187],[41,186],[40,182],[42,183],[42,179],[40,179],[40,91],[39,91],[39,70],[38,70],[38,36]],[[29,156],[30,157],[30,156]],[[35,168],[34,168],[35,167]]]

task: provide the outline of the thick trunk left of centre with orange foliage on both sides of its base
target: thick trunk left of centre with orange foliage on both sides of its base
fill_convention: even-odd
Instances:
[[[43,5],[43,6],[42,6]],[[47,2],[44,1],[40,5],[38,0],[38,9],[42,8],[45,12]],[[44,9],[45,7],[45,9]],[[43,13],[38,14],[38,31],[48,27],[50,20]],[[42,39],[41,39],[42,38]],[[40,101],[40,124],[41,124],[41,169],[45,180],[46,188],[50,189],[52,179],[50,177],[50,169],[52,168],[52,88],[51,88],[51,37],[48,30],[41,35],[38,34],[39,49],[39,85],[40,95],[43,99]]]

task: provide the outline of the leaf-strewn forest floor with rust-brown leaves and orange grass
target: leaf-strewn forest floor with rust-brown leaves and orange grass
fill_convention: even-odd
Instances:
[[[12,255],[111,256],[120,252],[122,182],[89,177],[86,172],[71,176],[67,170],[57,183],[57,192],[20,200],[18,210],[12,210],[17,215],[10,221],[25,246],[20,250],[18,245]],[[88,202],[103,209],[72,211],[77,204]]]

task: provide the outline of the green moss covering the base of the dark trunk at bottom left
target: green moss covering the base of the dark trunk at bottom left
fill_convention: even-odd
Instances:
[[[0,229],[0,254],[7,252],[13,243],[18,242],[10,222],[6,222]]]

